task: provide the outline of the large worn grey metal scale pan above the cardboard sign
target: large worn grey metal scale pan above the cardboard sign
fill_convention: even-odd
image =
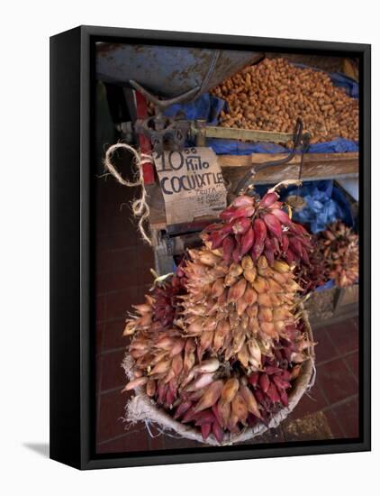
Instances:
[[[163,98],[180,96],[195,88],[200,95],[262,57],[257,51],[99,42],[96,76],[124,87],[133,79]]]

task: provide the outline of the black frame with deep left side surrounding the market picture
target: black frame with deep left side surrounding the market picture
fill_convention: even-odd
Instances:
[[[92,302],[94,41],[355,56],[360,66],[360,436],[281,445],[95,454]],[[330,41],[79,26],[50,38],[50,458],[78,469],[368,451],[370,427],[371,47]]]

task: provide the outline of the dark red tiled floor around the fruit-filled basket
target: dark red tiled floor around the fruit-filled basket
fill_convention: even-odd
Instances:
[[[140,241],[127,205],[135,194],[113,178],[99,179],[97,184],[96,451],[102,454],[199,447],[184,439],[151,437],[143,424],[127,426],[122,422],[128,400],[127,394],[121,393],[126,382],[121,367],[127,344],[122,337],[124,320],[131,304],[140,302],[149,289],[149,268],[154,266],[152,252]],[[310,395],[303,396],[285,427],[271,429],[255,443],[292,440],[293,430],[286,425],[316,412],[322,412],[328,423],[328,437],[358,436],[357,318],[320,326],[313,332],[319,344],[317,379]]]

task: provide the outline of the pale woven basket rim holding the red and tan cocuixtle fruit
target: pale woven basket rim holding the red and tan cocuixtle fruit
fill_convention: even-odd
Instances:
[[[312,328],[305,310],[303,310],[302,318],[304,329],[310,343],[312,343]],[[150,425],[154,425],[160,432],[166,432],[167,435],[185,437],[206,445],[234,445],[243,441],[248,441],[254,437],[261,436],[268,428],[277,427],[285,420],[289,413],[294,410],[299,400],[303,397],[304,392],[312,388],[315,380],[315,354],[313,344],[311,344],[309,349],[309,355],[309,359],[303,362],[301,372],[295,381],[293,390],[289,394],[289,406],[279,410],[276,415],[271,418],[268,426],[258,424],[255,427],[247,427],[236,435],[225,434],[222,443],[218,443],[213,435],[208,436],[204,441],[204,438],[199,431],[193,427],[177,422],[164,409],[159,409],[154,401],[141,389],[137,389],[135,396],[127,403],[124,420],[132,424],[142,421],[145,422],[148,430]],[[128,380],[133,378],[132,366],[133,359],[131,358],[131,355],[126,354],[122,367],[125,370]]]

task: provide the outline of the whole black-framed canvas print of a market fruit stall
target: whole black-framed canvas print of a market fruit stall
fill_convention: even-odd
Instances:
[[[370,449],[370,46],[50,39],[50,456]]]

